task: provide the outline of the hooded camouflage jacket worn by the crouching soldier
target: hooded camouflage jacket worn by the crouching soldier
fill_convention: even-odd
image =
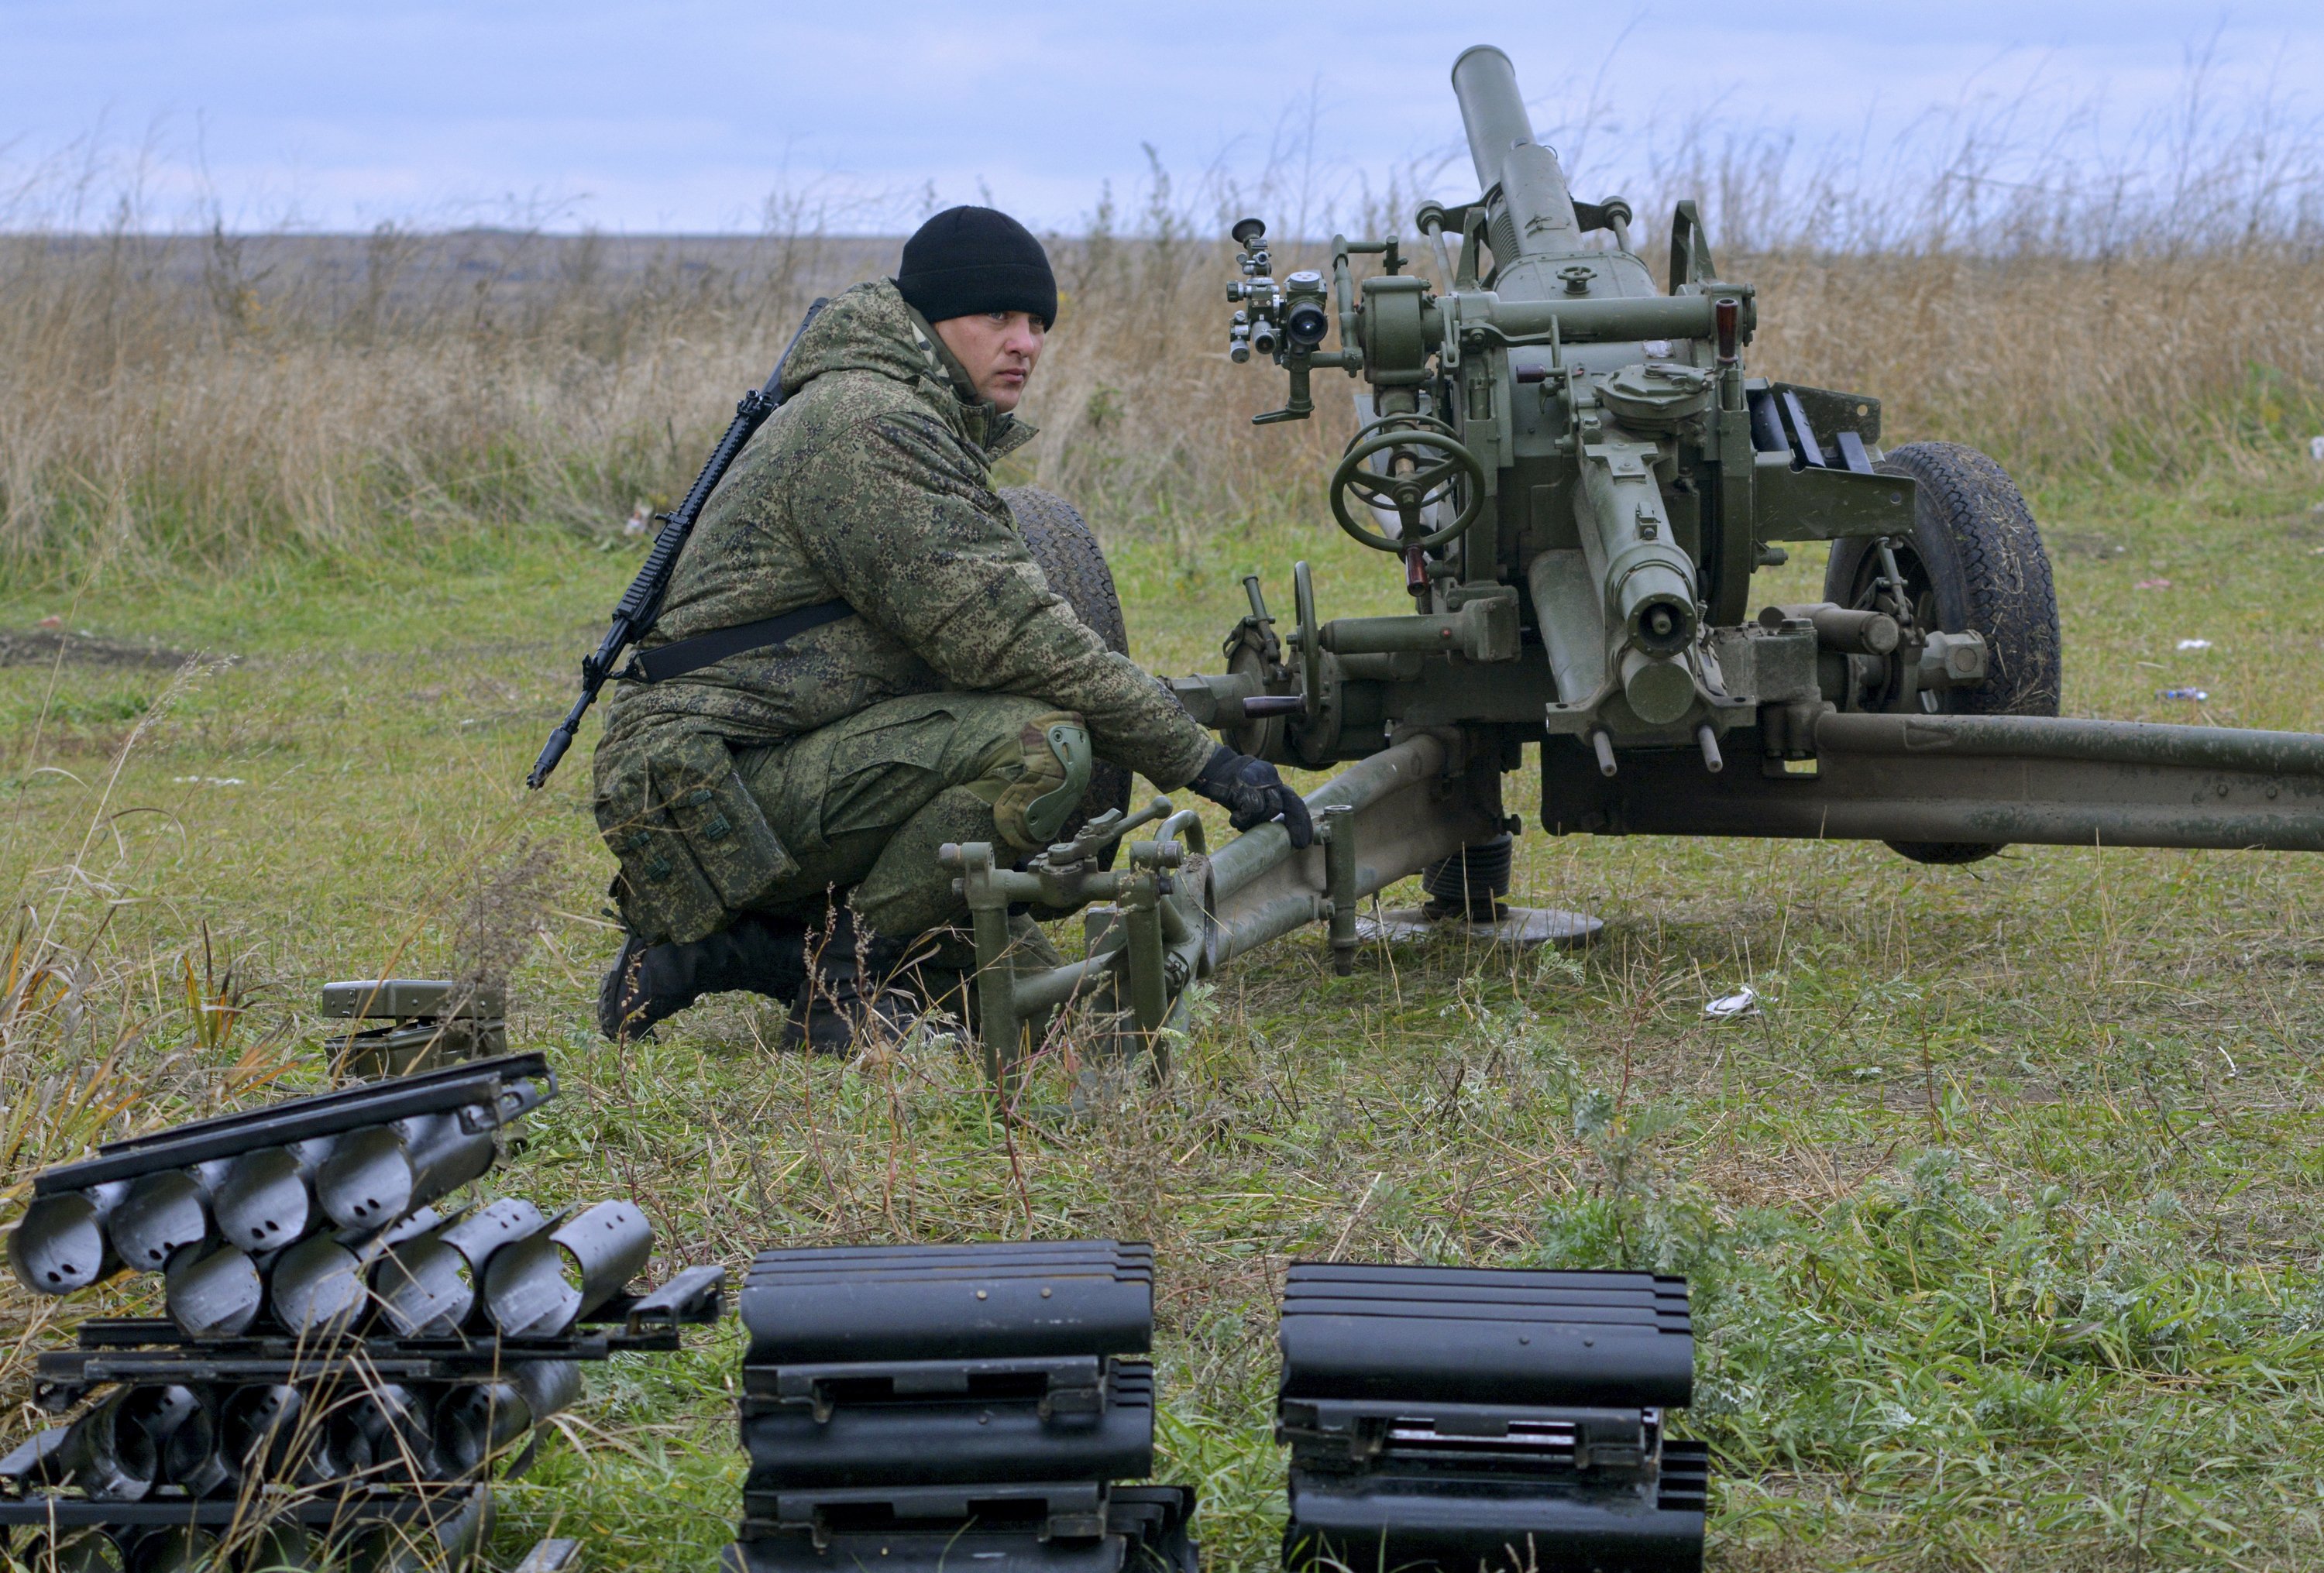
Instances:
[[[992,460],[1032,428],[976,400],[895,283],[837,295],[783,393],[702,509],[646,646],[830,599],[858,616],[623,685],[597,744],[600,797],[609,769],[627,774],[625,755],[672,730],[769,744],[932,690],[1081,711],[1102,757],[1160,788],[1192,781],[1211,734],[1048,588],[992,490]]]

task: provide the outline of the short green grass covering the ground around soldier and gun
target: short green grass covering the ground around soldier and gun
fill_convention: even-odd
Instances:
[[[2043,495],[2068,713],[2324,730],[2317,500],[2308,472]],[[1139,655],[1211,665],[1236,576],[1264,569],[1287,611],[1299,553],[1325,616],[1399,606],[1394,567],[1322,527],[1125,544]],[[762,1048],[776,1011],[744,997],[627,1055],[595,1039],[611,932],[588,762],[544,795],[521,778],[632,567],[541,530],[0,606],[0,627],[53,613],[235,658],[181,692],[0,669],[0,881],[86,1001],[0,1022],[7,1178],[100,1125],[316,1085],[328,978],[525,939],[514,1039],[565,1094],[495,1183],[639,1197],[655,1271],[837,1238],[1153,1238],[1162,1475],[1202,1487],[1213,1568],[1274,1564],[1271,1306],[1283,1262],[1322,1252],[1690,1273],[1715,1566],[2315,1561],[2312,862],[2022,848],[1922,869],[1534,832],[1518,897],[1604,915],[1590,953],[1399,946],[1336,978],[1299,936],[1218,981],[1167,1090],[1009,1132],[955,1046],[802,1062]],[[2133,588],[2152,579],[2171,588]],[[1794,562],[1764,595],[1817,583]],[[2171,685],[2212,697],[2154,697]],[[1511,804],[1534,792],[1527,774]],[[546,902],[495,878],[525,843],[555,857]],[[188,981],[246,1013],[200,1034],[216,1013]],[[1764,1015],[1706,1022],[1743,981]],[[70,1071],[116,1039],[79,1097]],[[116,1090],[135,1097],[114,1111]],[[0,1301],[23,1329],[12,1401],[56,1310]],[[737,1362],[727,1327],[600,1371],[572,1445],[507,1487],[500,1550],[558,1527],[600,1568],[706,1568],[741,1482]]]

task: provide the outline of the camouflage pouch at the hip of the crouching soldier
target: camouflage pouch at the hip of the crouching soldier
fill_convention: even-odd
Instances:
[[[686,732],[625,762],[597,799],[621,860],[616,897],[648,943],[693,943],[799,871],[713,732]]]

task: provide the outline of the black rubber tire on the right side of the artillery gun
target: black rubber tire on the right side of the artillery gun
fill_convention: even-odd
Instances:
[[[1985,634],[1985,683],[1943,690],[1943,709],[1957,716],[2057,716],[2064,671],[2057,586],[2024,493],[2001,465],[1957,441],[1906,444],[1875,469],[1917,483],[1917,565],[1899,562],[1915,599],[1934,611],[1941,630]],[[1831,544],[1824,599],[1859,604],[1878,562],[1873,546],[1866,539]],[[1929,864],[1978,862],[2001,850],[1987,841],[1889,846]]]

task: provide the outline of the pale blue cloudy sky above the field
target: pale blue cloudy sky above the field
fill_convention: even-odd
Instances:
[[[1706,105],[1720,132],[1808,146],[2006,102],[2101,107],[2126,137],[2212,37],[2229,112],[2273,91],[2315,116],[2324,84],[2319,0],[1469,9],[1492,21],[1408,0],[0,0],[0,174],[53,211],[95,146],[102,195],[137,165],[151,221],[216,200],[244,228],[753,230],[792,193],[892,230],[930,186],[1078,228],[1109,179],[1136,191],[1141,144],[1181,181],[1250,179],[1285,146],[1297,163],[1313,123],[1311,184],[1341,193],[1441,156],[1471,42],[1515,58],[1543,128],[1594,98],[1620,135],[1592,156],[1615,174]]]

